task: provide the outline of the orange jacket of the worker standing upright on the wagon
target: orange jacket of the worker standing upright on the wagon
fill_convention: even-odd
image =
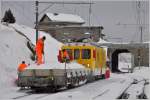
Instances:
[[[44,49],[44,41],[42,41],[42,38],[38,39],[35,47],[35,51],[38,53],[42,53]]]

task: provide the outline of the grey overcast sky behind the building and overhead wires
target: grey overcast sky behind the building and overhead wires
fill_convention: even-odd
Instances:
[[[54,1],[54,0],[51,0]],[[62,0],[57,0],[62,1]],[[63,0],[69,1],[69,0]],[[70,0],[71,1],[71,0]],[[73,0],[77,1],[77,0]],[[89,0],[84,0],[89,1]],[[93,1],[93,0],[91,0]],[[103,26],[103,33],[110,41],[117,42],[139,42],[140,31],[137,25],[138,16],[143,24],[143,41],[149,38],[149,1],[141,1],[141,9],[138,15],[136,1],[93,1],[90,23],[95,26]],[[85,25],[89,25],[89,5],[67,5],[67,4],[40,4],[40,17],[46,12],[69,13],[81,16]],[[35,2],[31,1],[2,1],[2,16],[5,10],[11,9],[16,17],[17,23],[34,27]],[[124,25],[125,24],[125,25]]]

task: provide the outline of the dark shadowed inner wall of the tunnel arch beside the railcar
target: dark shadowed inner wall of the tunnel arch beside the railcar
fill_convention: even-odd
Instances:
[[[128,49],[116,49],[111,56],[111,67],[112,67],[112,72],[119,72],[120,70],[118,69],[118,55],[120,53],[130,53]]]

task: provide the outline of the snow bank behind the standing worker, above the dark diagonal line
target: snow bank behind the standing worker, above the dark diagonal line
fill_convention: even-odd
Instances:
[[[12,24],[11,25],[16,30],[23,33],[25,36],[27,36],[31,42],[35,45],[36,43],[36,30],[29,28],[24,25],[18,25],[18,24]],[[51,37],[48,33],[45,32],[39,32],[39,37],[46,36],[45,41],[45,62],[46,63],[53,63],[55,64],[57,61],[57,55],[60,47],[62,46],[62,43],[58,42],[56,39]]]

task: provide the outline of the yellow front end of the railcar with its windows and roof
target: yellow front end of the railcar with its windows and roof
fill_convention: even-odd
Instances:
[[[58,61],[63,63],[63,50],[66,50],[69,55],[69,62],[76,61],[87,68],[94,67],[93,61],[96,58],[96,49],[88,43],[67,43],[59,50]]]

